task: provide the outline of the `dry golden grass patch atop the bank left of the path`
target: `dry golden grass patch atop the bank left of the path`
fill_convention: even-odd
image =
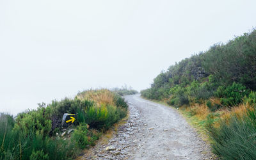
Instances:
[[[93,100],[98,106],[106,106],[107,104],[115,105],[114,93],[107,89],[87,90],[77,95],[78,99]]]

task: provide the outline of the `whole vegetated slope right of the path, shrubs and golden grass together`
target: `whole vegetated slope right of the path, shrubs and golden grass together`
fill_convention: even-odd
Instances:
[[[222,159],[256,159],[255,71],[253,29],[170,66],[141,96],[193,117]]]

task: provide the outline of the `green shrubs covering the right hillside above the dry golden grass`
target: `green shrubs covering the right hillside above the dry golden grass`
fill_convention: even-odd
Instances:
[[[151,88],[141,91],[141,96],[156,100],[168,99],[168,104],[181,105],[188,104],[187,97],[193,102],[209,99],[218,88],[215,95],[221,97],[223,106],[241,103],[244,95],[248,95],[247,90],[241,92],[242,89],[256,88],[255,35],[254,29],[252,33],[238,36],[225,45],[216,44],[209,51],[170,66],[154,79]],[[169,92],[177,85],[186,88],[187,92],[184,95]]]

